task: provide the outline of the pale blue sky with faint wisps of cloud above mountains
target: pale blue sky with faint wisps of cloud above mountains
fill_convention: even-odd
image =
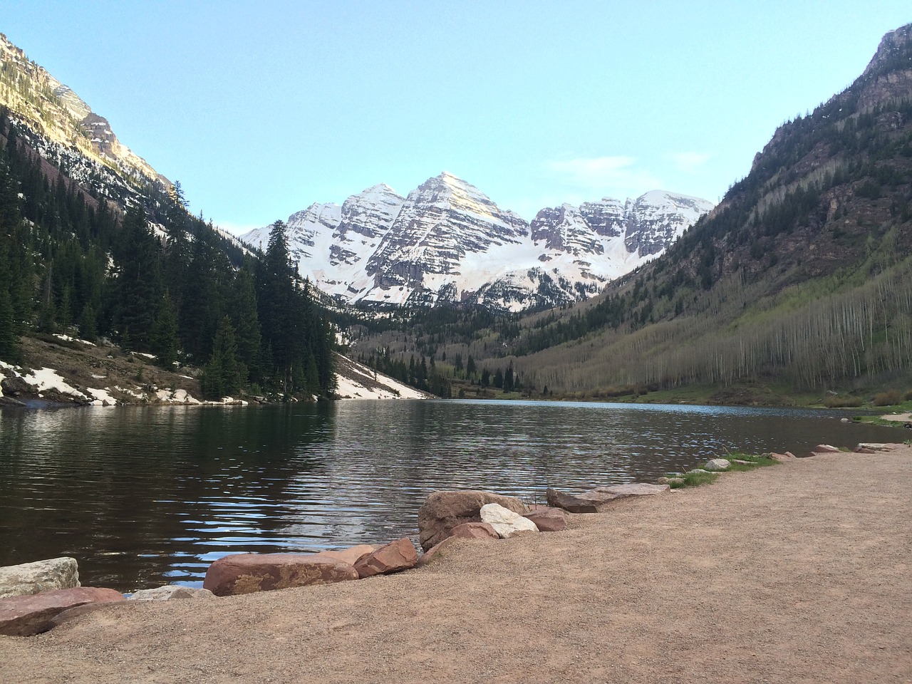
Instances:
[[[238,230],[440,171],[526,219],[717,202],[908,0],[0,0],[0,32]]]

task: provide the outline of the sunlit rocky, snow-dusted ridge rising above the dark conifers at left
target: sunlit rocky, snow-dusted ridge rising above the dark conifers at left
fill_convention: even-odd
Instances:
[[[148,185],[171,181],[122,144],[108,119],[0,34],[0,106],[22,125],[28,144],[67,175],[124,202]]]

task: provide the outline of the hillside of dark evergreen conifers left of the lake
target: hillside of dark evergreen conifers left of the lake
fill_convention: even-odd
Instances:
[[[68,179],[0,113],[0,359],[27,360],[23,335],[107,337],[162,368],[202,367],[207,398],[329,396],[334,335],[284,224],[245,254],[187,211],[179,184],[133,198],[124,211]]]

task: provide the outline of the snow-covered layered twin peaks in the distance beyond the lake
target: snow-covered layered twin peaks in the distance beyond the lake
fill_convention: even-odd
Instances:
[[[661,254],[712,203],[673,192],[564,204],[526,223],[483,192],[441,173],[401,197],[388,185],[342,206],[312,204],[287,221],[301,275],[349,302],[555,306]],[[265,248],[269,227],[241,239]]]

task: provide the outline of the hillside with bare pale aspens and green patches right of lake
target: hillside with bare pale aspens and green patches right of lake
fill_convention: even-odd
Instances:
[[[865,73],[784,124],[710,215],[595,300],[389,329],[364,348],[472,358],[478,382],[605,396],[737,382],[852,389],[912,368],[912,26]]]

